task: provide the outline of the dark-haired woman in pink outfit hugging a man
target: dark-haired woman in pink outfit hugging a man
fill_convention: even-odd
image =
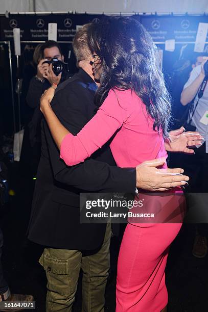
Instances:
[[[95,79],[101,83],[96,94],[100,108],[77,136],[64,127],[62,133],[54,131],[58,120],[49,124],[60,157],[67,165],[76,165],[110,138],[120,167],[167,157],[164,137],[170,99],[157,66],[156,46],[147,31],[132,18],[109,18],[91,28],[89,47],[94,51]],[[176,191],[172,190],[173,194]],[[117,312],[159,312],[165,308],[168,250],[180,227],[181,223],[129,220],[118,259]]]

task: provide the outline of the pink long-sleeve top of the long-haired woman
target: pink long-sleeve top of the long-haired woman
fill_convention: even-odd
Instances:
[[[153,123],[135,92],[110,90],[97,114],[82,130],[76,136],[64,137],[60,157],[68,166],[76,165],[113,135],[110,149],[119,167],[136,167],[147,160],[167,157],[163,132],[154,131]]]

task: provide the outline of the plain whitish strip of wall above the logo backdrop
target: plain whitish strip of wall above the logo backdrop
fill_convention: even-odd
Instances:
[[[1,0],[0,12],[208,13],[207,0]]]

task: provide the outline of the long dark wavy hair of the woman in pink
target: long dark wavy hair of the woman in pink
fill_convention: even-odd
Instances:
[[[102,61],[101,105],[110,89],[134,91],[154,119],[153,129],[167,136],[171,115],[170,96],[159,69],[157,47],[143,25],[134,18],[113,16],[91,25],[88,45]]]

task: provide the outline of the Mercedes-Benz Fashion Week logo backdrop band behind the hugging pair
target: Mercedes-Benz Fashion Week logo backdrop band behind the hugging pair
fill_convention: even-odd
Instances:
[[[97,21],[104,14],[9,14],[0,16],[1,40],[12,40],[13,29],[20,28],[21,41],[48,39],[48,23],[57,23],[57,41],[73,41],[77,27]],[[194,42],[199,22],[207,23],[208,15],[137,15],[155,42],[175,39],[176,42]]]

